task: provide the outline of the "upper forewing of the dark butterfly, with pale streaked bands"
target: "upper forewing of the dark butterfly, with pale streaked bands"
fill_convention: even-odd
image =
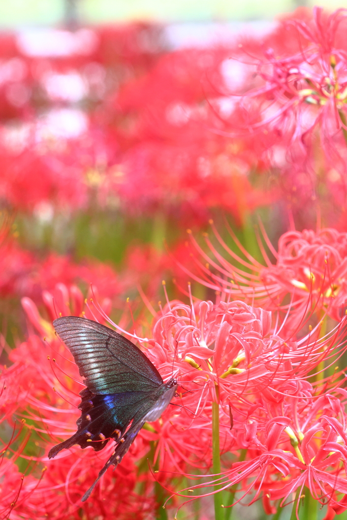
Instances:
[[[150,392],[163,384],[145,354],[108,327],[77,316],[57,318],[53,325],[92,393]]]

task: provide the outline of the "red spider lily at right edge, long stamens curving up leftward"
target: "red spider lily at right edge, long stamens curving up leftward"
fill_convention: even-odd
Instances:
[[[210,289],[242,298],[248,303],[256,301],[267,309],[282,309],[291,314],[292,320],[295,314],[299,327],[307,313],[316,313],[319,320],[328,315],[338,322],[344,316],[347,300],[345,232],[333,228],[323,228],[317,232],[306,229],[302,232],[288,231],[279,238],[276,251],[263,230],[263,239],[276,259],[273,265],[258,237],[264,263],[267,264],[265,267],[243,248],[228,228],[239,254],[230,249],[210,222],[214,237],[223,250],[220,252],[206,235],[205,242],[213,255],[211,257],[189,231],[191,243],[201,259],[195,253],[196,268],[192,272],[182,263],[179,265],[191,278]],[[289,303],[286,301],[288,297]]]

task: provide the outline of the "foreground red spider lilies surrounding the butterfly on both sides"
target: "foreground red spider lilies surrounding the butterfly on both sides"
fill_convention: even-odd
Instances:
[[[76,287],[68,290],[60,284],[55,294],[45,293],[44,301],[52,318],[69,315],[71,309],[73,315],[109,321],[108,301],[99,305],[91,300],[85,304]],[[47,469],[40,482],[33,473],[24,477],[20,489],[14,488],[18,497],[11,498],[11,507],[18,512],[31,508],[36,515],[76,514],[82,507],[88,514],[88,503],[81,504],[79,490],[91,485],[97,476],[100,455],[89,450],[84,453],[80,448],[62,452],[53,461],[48,461],[46,455],[58,438],[74,431],[78,392],[83,383],[50,322],[40,316],[29,298],[23,298],[22,304],[32,328],[28,342],[9,355],[13,365],[9,373],[6,369],[3,374],[7,381],[3,409],[14,430],[16,424],[10,416],[20,418],[23,430],[27,428],[29,434],[37,435],[36,451],[41,453],[30,459],[38,467],[44,463]],[[192,495],[185,491],[178,495],[191,498],[240,484],[245,495],[253,489],[252,501],[263,498],[266,508],[273,511],[278,499],[286,500],[293,491],[301,492],[306,486],[322,504],[328,501],[333,511],[345,509],[341,501],[341,493],[347,492],[347,394],[341,388],[345,375],[343,371],[323,374],[324,370],[328,374],[333,359],[345,352],[345,318],[323,337],[318,325],[298,339],[300,330],[296,326],[290,330],[290,316],[288,323],[280,323],[278,313],[225,297],[215,304],[168,301],[155,318],[151,339],[133,336],[164,380],[172,375],[178,380],[178,395],[173,403],[176,406],[169,406],[159,421],[140,432],[124,464],[115,472],[116,480],[111,472],[106,474],[97,491],[100,514],[117,512],[125,518],[130,503],[136,502],[135,482],[143,482],[148,492],[148,504],[141,502],[143,509],[137,514],[146,516],[150,508],[156,507],[153,477],[148,467],[143,468],[144,458],[151,457],[151,463],[158,468],[159,482],[174,495],[177,491],[172,489],[173,476],[177,479],[189,475],[192,469],[211,473],[215,404],[221,454],[232,453],[233,459],[222,460],[222,469],[216,472],[220,474],[212,480],[189,487]],[[124,332],[120,325],[117,328]],[[325,369],[322,361],[328,363]],[[20,385],[14,388],[19,374]],[[247,456],[237,462],[240,450],[246,450]],[[111,451],[112,446],[107,447],[101,459],[109,457]],[[25,439],[20,446],[10,447],[9,452],[15,458],[28,458]],[[15,478],[16,466],[11,467],[11,478],[19,482],[20,477]],[[114,485],[120,497],[123,495],[117,505],[113,500],[109,504],[107,499]],[[211,486],[211,491],[201,490]],[[60,496],[59,510],[53,513],[49,504],[56,507],[54,497],[59,489],[65,489],[65,493]],[[25,504],[19,498],[21,494],[28,495]]]

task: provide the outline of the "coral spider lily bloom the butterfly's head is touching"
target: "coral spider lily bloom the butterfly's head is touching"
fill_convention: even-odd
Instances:
[[[272,434],[263,428],[269,409],[275,415],[285,410],[289,417],[285,427],[288,430],[291,421],[295,421],[298,438],[301,439],[303,433],[299,426],[297,405],[300,402],[302,407],[305,402],[305,406],[309,406],[307,402],[312,404],[310,399],[313,395],[312,385],[306,381],[306,376],[323,358],[330,358],[336,336],[329,340],[325,338],[325,352],[325,347],[322,349],[319,341],[313,340],[318,329],[299,342],[286,342],[280,339],[280,331],[272,328],[271,318],[269,311],[252,308],[243,302],[220,302],[216,305],[200,302],[187,306],[177,301],[168,302],[163,315],[157,317],[153,339],[144,343],[151,345],[146,353],[160,367],[163,375],[169,378],[174,373],[184,391],[182,401],[178,401],[182,404],[181,411],[171,417],[172,410],[163,414],[158,439],[160,469],[163,472],[184,471],[182,459],[200,469],[211,460],[208,447],[211,449],[213,401],[220,405],[223,451],[248,449],[251,453],[252,446],[259,443],[256,440],[257,424],[261,425],[268,439],[263,441],[267,446]],[[344,350],[342,341],[340,354]],[[325,389],[329,385],[333,388],[337,381],[324,381]],[[322,397],[311,413],[306,410],[308,419],[305,424],[313,420],[322,407],[331,408],[333,399],[324,400]],[[304,432],[305,424],[302,424]],[[159,431],[157,426],[156,431]],[[204,438],[203,446],[206,449],[203,458],[201,438]],[[275,438],[276,443],[279,442],[279,434],[274,433]],[[290,436],[287,442],[290,444]],[[195,457],[185,454],[182,446],[190,446]],[[269,450],[269,447],[266,449]],[[269,455],[268,460],[272,459]],[[253,470],[252,466],[250,473]]]

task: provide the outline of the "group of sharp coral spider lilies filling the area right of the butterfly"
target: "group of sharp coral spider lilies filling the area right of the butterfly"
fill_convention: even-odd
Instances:
[[[250,502],[263,498],[271,513],[276,509],[268,499],[283,499],[283,505],[293,491],[306,486],[314,499],[341,512],[347,491],[347,394],[339,385],[345,374],[324,378],[319,365],[345,351],[345,318],[330,334],[319,337],[316,327],[299,341],[295,337],[300,330],[289,332],[287,324],[285,332],[284,325],[276,313],[244,302],[168,302],[147,352],[162,373],[169,376],[173,369],[188,389],[179,418],[170,421],[169,438],[182,430],[183,440],[188,428],[189,445],[201,447],[202,432],[213,437],[212,406],[217,402],[222,453],[237,457],[239,450],[247,450],[247,456],[189,492],[201,495],[199,490],[216,484],[217,492],[241,484],[242,496],[253,489]],[[160,442],[168,452],[170,441]],[[212,449],[211,440],[203,445]],[[165,459],[177,456],[175,442],[171,451],[163,453],[164,468]]]

